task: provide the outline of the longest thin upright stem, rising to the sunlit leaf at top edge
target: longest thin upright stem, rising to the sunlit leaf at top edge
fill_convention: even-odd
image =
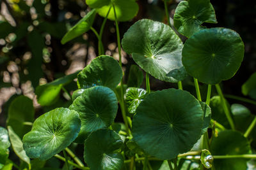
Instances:
[[[122,55],[121,55],[121,41],[120,41],[120,32],[119,32],[119,27],[118,27],[118,22],[117,22],[117,17],[116,17],[116,10],[115,10],[115,5],[113,4],[113,10],[114,10],[114,14],[115,14],[115,24],[116,24],[116,37],[117,37],[117,45],[118,45],[118,55],[119,55],[119,65],[122,68]],[[121,107],[121,112],[122,112],[122,116],[124,119],[124,124],[125,124],[125,128],[127,130],[127,133],[129,134],[129,136],[131,136],[131,131],[129,129],[128,126],[128,120],[127,120],[127,116],[125,113],[125,105],[124,105],[124,85],[123,85],[123,77],[121,80],[121,101],[120,101],[120,107]]]

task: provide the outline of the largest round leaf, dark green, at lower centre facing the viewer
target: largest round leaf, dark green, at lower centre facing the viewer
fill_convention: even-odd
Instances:
[[[203,111],[189,92],[167,89],[148,94],[132,120],[134,141],[150,155],[173,159],[201,136]]]

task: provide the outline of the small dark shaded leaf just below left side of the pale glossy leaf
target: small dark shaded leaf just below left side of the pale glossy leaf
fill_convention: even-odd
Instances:
[[[140,87],[143,82],[143,72],[140,67],[132,65],[130,67],[127,86],[128,87]]]

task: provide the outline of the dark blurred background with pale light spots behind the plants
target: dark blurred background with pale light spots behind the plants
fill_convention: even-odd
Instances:
[[[138,15],[129,22],[120,22],[121,37],[142,18],[167,22],[162,0],[138,0],[137,3],[140,6]],[[178,3],[179,0],[168,1],[171,22]],[[243,0],[211,0],[211,3],[216,10],[218,24],[204,25],[234,29],[244,41],[245,55],[239,71],[222,83],[225,94],[243,96],[241,85],[256,71],[256,3]],[[0,7],[0,125],[5,125],[8,106],[20,94],[33,99],[37,116],[58,106],[68,106],[68,96],[62,92],[51,106],[41,107],[36,101],[35,89],[66,74],[76,73],[97,56],[98,40],[92,31],[61,45],[61,38],[67,30],[90,8],[84,0],[0,0]],[[97,31],[103,19],[96,16],[93,27]],[[182,36],[180,38],[185,40]],[[106,23],[102,42],[106,54],[118,59],[115,24],[110,20]],[[122,58],[127,83],[129,68],[134,61],[125,52],[122,52]],[[152,77],[150,83],[152,90],[176,87],[176,84]],[[191,78],[184,80],[183,85],[184,90],[194,93]],[[207,87],[201,86],[202,94],[206,94]],[[77,89],[76,82],[72,81],[65,89],[70,92]],[[256,113],[252,104],[242,104]]]

